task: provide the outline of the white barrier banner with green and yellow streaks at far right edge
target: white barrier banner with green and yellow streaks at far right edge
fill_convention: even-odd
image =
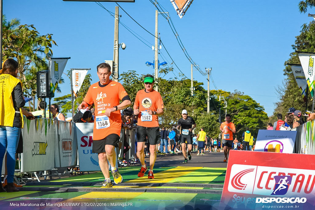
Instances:
[[[304,123],[301,132],[300,151],[302,154],[315,155],[315,124],[314,121]]]

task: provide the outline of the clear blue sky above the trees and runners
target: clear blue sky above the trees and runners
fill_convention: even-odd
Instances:
[[[169,12],[175,28],[191,58],[202,70],[212,67],[212,77],[218,89],[235,89],[250,95],[272,115],[278,101],[276,88],[284,80],[284,61],[293,51],[295,36],[301,26],[312,21],[300,14],[297,1],[208,1],[194,0],[182,19],[169,0],[158,0]],[[143,27],[154,34],[155,7],[148,0],[119,3]],[[115,12],[116,3],[102,5]],[[309,11],[312,13],[312,11]],[[154,37],[144,31],[121,9],[120,21],[143,37],[148,45]],[[7,19],[18,18],[21,24],[33,24],[41,34],[51,33],[58,46],[53,57],[71,57],[70,68],[91,68],[93,83],[98,81],[96,66],[113,59],[114,18],[94,2],[64,2],[62,0],[3,0]],[[159,15],[159,33],[169,54],[180,70],[190,78],[190,62],[186,59],[167,20]],[[142,39],[142,38],[141,38]],[[146,41],[145,41],[146,40]],[[146,61],[153,62],[154,51],[140,42],[123,26],[119,27],[119,42],[127,45],[119,51],[119,71],[135,70],[139,74],[154,73]],[[164,48],[160,51],[168,63],[171,59]],[[159,57],[160,62],[164,59]],[[170,65],[169,65],[170,66]],[[173,65],[174,73],[179,70]],[[169,73],[164,78],[175,77]],[[195,80],[204,83],[206,76],[193,71]],[[60,85],[62,96],[71,93],[66,77]],[[210,89],[214,85],[210,82]]]

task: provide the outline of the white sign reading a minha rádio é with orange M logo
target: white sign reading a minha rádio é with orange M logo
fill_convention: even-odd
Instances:
[[[293,153],[296,131],[259,130],[255,151]]]

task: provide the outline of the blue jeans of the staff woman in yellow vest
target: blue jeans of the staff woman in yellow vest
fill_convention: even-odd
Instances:
[[[7,150],[7,182],[13,183],[15,169],[15,152],[20,139],[21,128],[0,126],[0,169],[4,153]]]

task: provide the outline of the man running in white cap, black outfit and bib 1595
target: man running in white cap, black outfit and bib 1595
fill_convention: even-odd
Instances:
[[[192,119],[191,116],[188,116],[187,110],[184,109],[181,112],[182,118],[180,118],[177,122],[177,129],[181,127],[180,130],[180,142],[181,142],[181,151],[185,158],[183,163],[187,163],[187,156],[186,156],[186,141],[187,141],[187,152],[188,152],[188,159],[191,160],[192,156],[190,152],[192,151],[192,130],[196,128],[196,122]]]

